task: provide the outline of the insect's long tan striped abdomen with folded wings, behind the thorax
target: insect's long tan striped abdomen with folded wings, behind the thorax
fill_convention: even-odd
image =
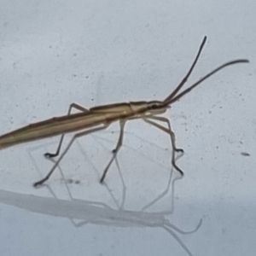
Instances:
[[[46,137],[84,130],[97,125],[108,125],[120,119],[134,118],[137,113],[134,111],[135,107],[131,108],[131,105],[131,103],[110,104],[90,108],[85,113],[73,113],[27,125],[1,136],[0,149],[19,143],[27,143]],[[144,102],[139,102],[138,105],[145,108]]]

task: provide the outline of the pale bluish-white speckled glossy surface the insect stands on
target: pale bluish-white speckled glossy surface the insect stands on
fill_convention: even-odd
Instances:
[[[86,212],[86,201],[114,209],[124,203],[116,166],[108,173],[108,188],[98,183],[117,125],[81,138],[61,162],[64,176],[80,182],[69,187],[73,198],[84,201],[70,201],[65,211],[47,200],[49,189],[32,188],[52,165],[43,154],[55,150],[58,138],[2,150],[0,254],[188,255],[161,219],[193,230],[202,218],[195,233],[178,234],[193,255],[255,255],[255,7],[254,1],[2,1],[1,134],[65,114],[72,102],[90,108],[161,100],[188,71],[205,35],[207,44],[188,84],[224,61],[251,62],[216,74],[165,114],[177,146],[185,150],[177,162],[185,176],[175,185],[173,214],[151,215],[143,227],[143,215],[137,221],[132,213],[125,221],[115,212],[121,216],[116,224],[111,216],[102,220],[96,212],[92,220]],[[170,143],[139,121],[125,131],[119,154],[123,209],[140,214],[166,189]],[[58,171],[48,184],[59,199],[68,200]],[[25,195],[43,197],[44,207]],[[148,211],[171,211],[171,202],[172,189]],[[71,209],[84,204],[84,217],[74,216]],[[68,218],[88,224],[77,228]],[[150,221],[155,227],[147,227]]]

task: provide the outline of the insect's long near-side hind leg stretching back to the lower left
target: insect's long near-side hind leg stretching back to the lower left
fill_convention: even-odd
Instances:
[[[61,162],[62,158],[64,157],[65,154],[67,154],[67,151],[68,149],[71,147],[71,145],[73,144],[73,142],[78,138],[78,137],[82,137],[82,136],[85,136],[87,134],[90,134],[92,132],[95,132],[95,131],[100,131],[100,130],[104,130],[108,127],[109,124],[106,124],[102,127],[97,127],[97,128],[94,128],[94,129],[90,129],[89,131],[82,131],[82,132],[79,132],[77,134],[75,134],[72,138],[72,140],[68,143],[67,145],[67,148],[64,149],[64,151],[62,152],[60,158],[55,162],[55,165],[50,169],[50,171],[48,172],[48,174],[41,180],[39,180],[38,182],[34,183],[33,186],[34,187],[37,187],[38,185],[42,185],[44,182],[46,182],[49,177],[52,175],[52,173],[55,171],[55,168],[59,165],[59,163]]]

